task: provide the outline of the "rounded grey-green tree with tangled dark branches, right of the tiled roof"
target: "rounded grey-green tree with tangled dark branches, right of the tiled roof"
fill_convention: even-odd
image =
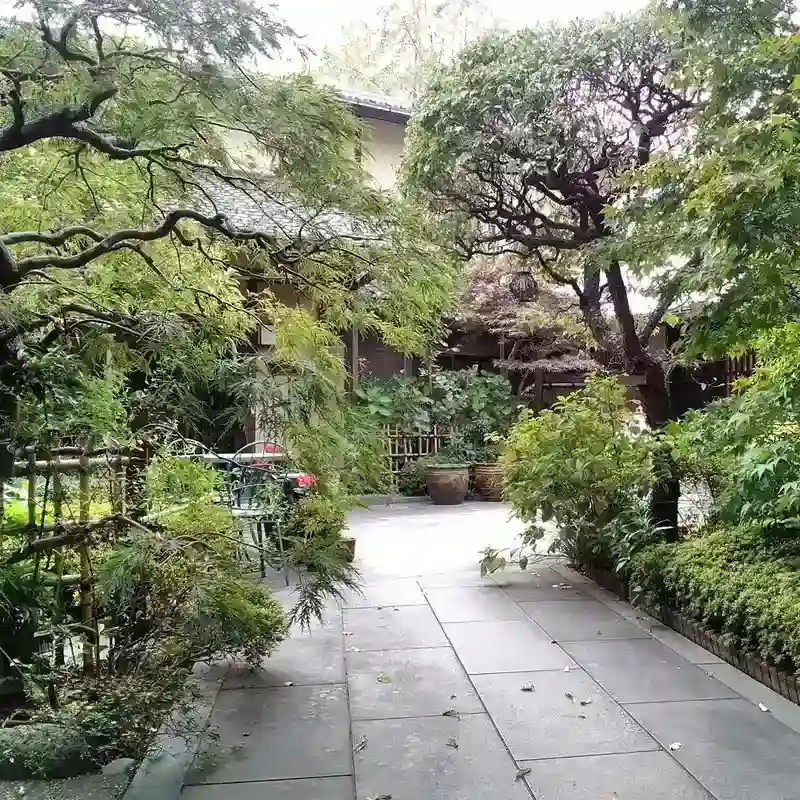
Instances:
[[[483,40],[432,82],[406,163],[409,187],[461,224],[463,254],[516,253],[574,292],[606,359],[648,377],[656,424],[671,412],[647,343],[678,283],[654,285],[654,312],[634,317],[608,209],[623,176],[684,135],[698,93],[680,63],[680,37],[650,13]]]

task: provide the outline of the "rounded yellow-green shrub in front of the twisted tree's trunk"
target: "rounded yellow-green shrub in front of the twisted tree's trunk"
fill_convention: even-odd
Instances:
[[[629,530],[615,520],[638,509],[652,483],[652,446],[638,434],[625,387],[602,376],[518,422],[502,465],[506,497],[528,525],[525,541],[552,520],[554,546],[574,563],[613,567],[615,534]]]

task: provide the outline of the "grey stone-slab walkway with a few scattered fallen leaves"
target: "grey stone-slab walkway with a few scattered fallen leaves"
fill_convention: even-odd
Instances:
[[[227,675],[182,800],[800,798],[796,706],[554,561],[481,580],[503,507],[351,526],[364,595]]]

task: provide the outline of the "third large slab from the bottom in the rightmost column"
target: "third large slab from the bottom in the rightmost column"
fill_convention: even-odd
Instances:
[[[648,638],[646,631],[598,600],[523,602],[520,606],[537,625],[560,642]]]

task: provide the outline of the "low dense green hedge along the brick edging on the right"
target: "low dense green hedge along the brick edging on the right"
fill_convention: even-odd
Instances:
[[[800,541],[737,528],[656,544],[631,560],[631,589],[720,634],[728,647],[800,668]]]

